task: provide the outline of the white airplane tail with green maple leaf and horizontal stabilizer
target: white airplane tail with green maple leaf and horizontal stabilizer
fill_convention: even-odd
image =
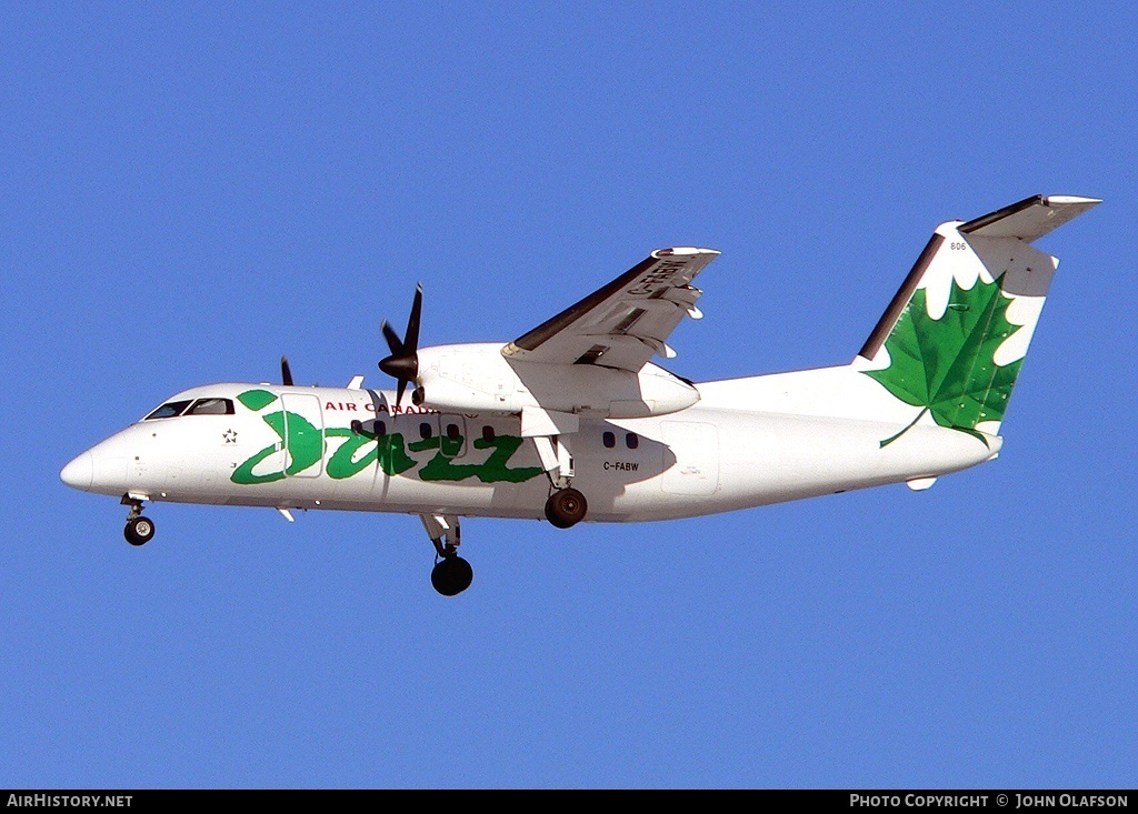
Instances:
[[[941,224],[855,369],[922,408],[913,424],[930,413],[941,426],[997,434],[1058,265],[1030,243],[1099,202],[1036,196]]]

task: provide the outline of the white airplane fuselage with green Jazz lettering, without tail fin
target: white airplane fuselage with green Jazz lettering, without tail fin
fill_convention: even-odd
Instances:
[[[764,380],[782,387],[764,376],[747,380],[747,390],[764,392]],[[410,406],[391,415],[394,393],[272,384],[215,384],[171,401],[197,399],[228,400],[232,413],[141,421],[75,458],[64,481],[154,501],[543,517],[550,481],[518,415]],[[663,416],[583,417],[561,442],[572,456],[572,484],[588,498],[587,520],[601,522],[916,481],[999,449],[996,437],[986,445],[931,422],[882,446],[904,424],[718,396]]]

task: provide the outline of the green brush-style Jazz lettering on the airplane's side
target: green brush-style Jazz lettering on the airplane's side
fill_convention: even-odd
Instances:
[[[277,400],[277,396],[267,390],[247,390],[237,398],[254,412],[261,412]],[[539,466],[508,465],[522,445],[522,439],[518,435],[476,439],[472,445],[476,450],[489,450],[486,459],[478,464],[456,464],[453,458],[462,450],[464,439],[461,435],[436,435],[406,443],[399,432],[355,433],[343,426],[327,427],[321,432],[304,416],[286,410],[269,413],[262,418],[280,440],[241,463],[230,477],[233,483],[272,483],[304,472],[320,463],[331,439],[345,439],[328,459],[328,476],[336,480],[352,477],[370,466],[378,466],[386,475],[401,475],[419,467],[413,474],[423,481],[463,481],[477,477],[483,483],[521,483],[542,474]],[[286,452],[287,465],[273,467],[262,474],[254,472],[262,462],[282,450]],[[435,455],[426,463],[411,455],[422,455],[430,450],[436,450]]]

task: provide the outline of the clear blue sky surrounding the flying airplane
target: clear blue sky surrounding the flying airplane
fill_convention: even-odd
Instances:
[[[698,6],[698,7],[696,7]],[[1125,3],[0,9],[0,787],[1132,787]],[[852,358],[938,223],[1104,199],[997,462],[716,517],[160,505],[58,479],[167,396],[372,385],[723,256],[669,367]]]

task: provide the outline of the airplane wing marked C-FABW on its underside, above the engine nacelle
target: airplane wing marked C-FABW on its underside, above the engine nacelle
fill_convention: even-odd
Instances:
[[[580,302],[502,349],[508,359],[601,365],[640,371],[654,354],[671,358],[665,340],[685,314],[702,316],[691,285],[719,256],[712,249],[659,249]]]

